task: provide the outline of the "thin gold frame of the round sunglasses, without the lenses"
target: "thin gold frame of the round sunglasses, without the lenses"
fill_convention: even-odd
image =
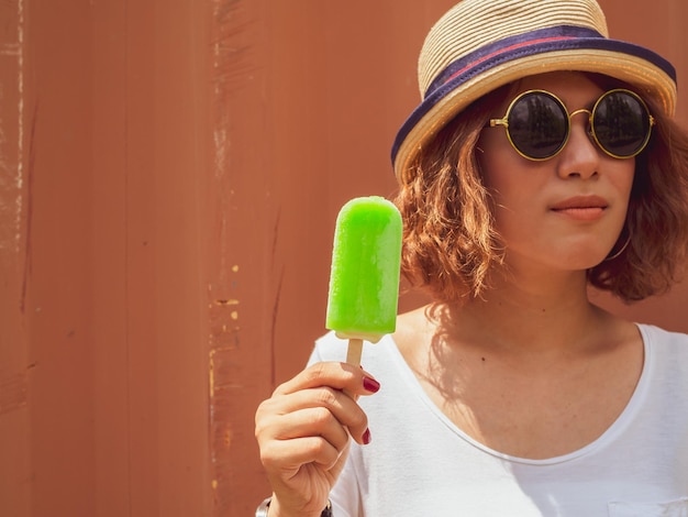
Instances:
[[[633,154],[629,155],[629,156],[621,156],[621,155],[617,155],[611,153],[610,151],[608,151],[607,148],[604,148],[604,146],[600,143],[599,139],[597,138],[597,134],[595,133],[595,125],[592,124],[592,119],[595,117],[595,111],[597,110],[597,107],[599,106],[599,103],[602,101],[602,99],[604,99],[607,96],[609,96],[610,94],[615,94],[615,92],[623,92],[623,94],[629,94],[631,97],[633,97],[634,99],[636,99],[641,106],[645,109],[645,113],[647,113],[647,117],[650,119],[650,125],[647,128],[647,134],[645,135],[645,140],[643,141],[643,143],[641,144],[641,146],[639,147],[637,151],[635,151]],[[511,132],[509,131],[509,116],[511,114],[511,110],[513,109],[513,107],[515,106],[515,103],[521,100],[523,97],[525,97],[526,95],[531,95],[531,94],[544,94],[547,97],[551,97],[552,99],[554,99],[564,110],[564,113],[567,116],[567,122],[568,122],[568,127],[566,129],[566,138],[564,139],[564,141],[562,142],[562,144],[559,145],[559,147],[556,150],[556,152],[554,154],[551,154],[550,156],[545,156],[542,158],[536,158],[533,156],[529,156],[528,154],[523,153],[521,150],[519,150],[517,147],[517,145],[513,143],[513,140],[511,139]],[[507,139],[509,139],[509,143],[511,144],[511,146],[514,148],[514,151],[517,153],[519,153],[519,155],[523,156],[526,160],[530,160],[532,162],[544,162],[546,160],[551,160],[553,157],[555,157],[557,154],[559,154],[564,147],[566,146],[566,144],[568,143],[568,139],[570,136],[570,127],[572,127],[572,119],[578,114],[578,113],[588,113],[588,127],[589,129],[589,134],[590,136],[592,136],[592,140],[595,141],[595,143],[597,144],[597,146],[607,155],[611,156],[612,158],[617,158],[617,160],[628,160],[628,158],[632,158],[637,156],[640,153],[642,153],[645,147],[647,146],[647,143],[650,142],[650,138],[652,135],[652,128],[653,125],[655,125],[655,118],[652,116],[652,113],[650,112],[650,108],[647,107],[647,103],[642,99],[641,96],[639,96],[635,91],[631,91],[629,89],[625,88],[614,88],[611,90],[606,91],[604,94],[602,94],[597,101],[595,102],[595,106],[592,107],[591,110],[586,109],[586,108],[581,108],[579,110],[574,111],[573,113],[568,112],[568,109],[566,108],[566,105],[564,103],[564,101],[562,101],[562,99],[559,99],[557,96],[555,96],[554,94],[552,94],[551,91],[547,90],[526,90],[523,91],[521,94],[519,94],[517,97],[514,97],[514,99],[509,103],[509,107],[507,108],[507,112],[504,113],[504,116],[501,119],[490,119],[490,128],[495,128],[497,125],[503,125],[504,130],[507,131]]]

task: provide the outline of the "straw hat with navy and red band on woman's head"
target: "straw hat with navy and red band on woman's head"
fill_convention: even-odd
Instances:
[[[463,0],[423,44],[418,63],[423,100],[392,146],[399,182],[410,179],[410,164],[423,144],[470,102],[522,77],[554,70],[621,79],[674,114],[672,64],[642,46],[610,40],[595,0]]]

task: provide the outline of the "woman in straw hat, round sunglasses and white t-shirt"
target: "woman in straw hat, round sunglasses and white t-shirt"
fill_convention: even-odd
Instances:
[[[593,0],[464,0],[419,79],[392,161],[402,271],[433,302],[365,371],[322,338],[260,405],[257,515],[688,515],[688,337],[588,299],[684,265],[673,67]]]

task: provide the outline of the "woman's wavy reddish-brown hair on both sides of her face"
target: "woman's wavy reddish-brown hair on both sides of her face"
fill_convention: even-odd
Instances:
[[[418,155],[395,202],[404,221],[401,258],[411,287],[436,301],[477,297],[503,262],[490,195],[476,158],[490,113],[513,89],[499,88],[470,105]],[[655,118],[648,146],[636,157],[622,253],[588,271],[589,283],[626,302],[665,293],[688,252],[688,133],[647,102]]]

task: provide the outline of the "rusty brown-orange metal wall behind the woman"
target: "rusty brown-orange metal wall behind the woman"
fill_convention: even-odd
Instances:
[[[0,2],[0,515],[251,515],[255,407],[323,332],[340,206],[395,188],[452,3]],[[601,3],[688,76],[688,4]],[[685,284],[602,302],[688,331]]]

